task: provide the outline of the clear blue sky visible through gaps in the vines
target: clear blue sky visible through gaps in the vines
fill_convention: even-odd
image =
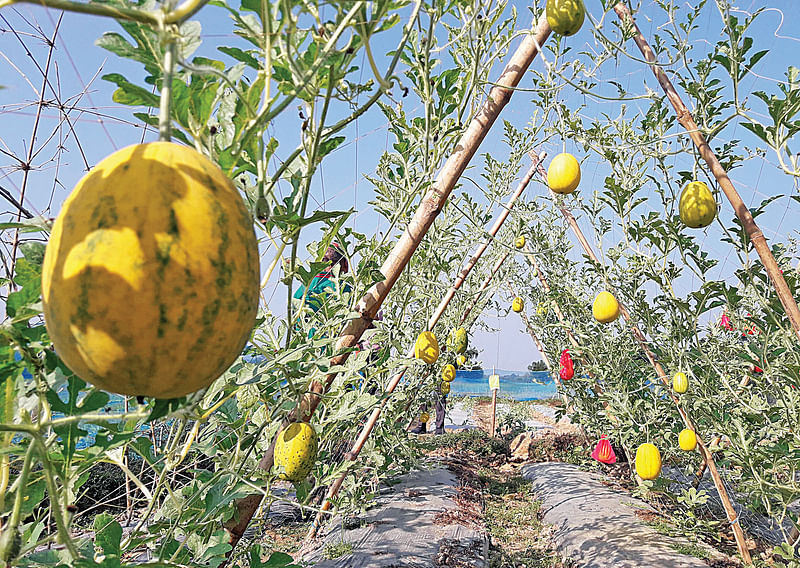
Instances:
[[[647,19],[648,5],[643,2],[642,12],[638,16],[639,24],[647,37],[652,37],[655,30],[663,22],[651,22]],[[713,0],[711,2],[713,4]],[[745,11],[752,11],[759,6],[755,0],[736,2],[736,5]],[[600,3],[597,0],[586,0],[589,12],[595,20],[601,18]],[[528,5],[518,3],[519,22],[525,25],[531,21]],[[794,8],[794,9],[792,9]],[[746,81],[746,90],[774,91],[776,80],[784,78],[786,68],[791,64],[800,65],[796,57],[800,53],[800,43],[793,37],[793,30],[798,29],[800,14],[793,0],[775,1],[763,14],[758,23],[752,28],[751,35],[756,37],[758,49],[769,49],[770,53],[761,60],[755,69],[755,74]],[[59,13],[46,11],[36,6],[27,4],[19,5],[14,9],[6,8],[0,11],[0,85],[6,88],[0,90],[0,149],[10,154],[24,155],[27,142],[36,118],[36,91],[41,88],[42,77],[37,71],[33,60],[26,55],[30,50],[39,65],[44,66],[47,56],[46,45],[36,38],[39,26],[46,36],[52,35],[54,26],[59,18]],[[613,19],[613,13],[606,14],[606,20]],[[203,25],[204,44],[198,55],[219,58],[221,55],[215,46],[229,44],[235,41],[231,34],[232,26],[225,13],[214,7],[207,7],[201,12],[199,19]],[[700,22],[700,30],[695,37],[707,38],[709,44],[697,42],[695,47],[698,55],[704,54],[712,47],[712,43],[719,38],[720,18],[716,9],[708,6],[704,18]],[[17,30],[22,42],[12,34],[9,29]],[[581,32],[569,40],[570,45],[579,50],[596,50],[597,46],[591,37],[590,31],[585,26]],[[44,149],[33,160],[37,169],[30,173],[28,188],[26,190],[25,205],[34,213],[46,213],[53,216],[57,213],[61,202],[68,194],[69,189],[82,175],[85,161],[89,165],[97,163],[104,156],[115,149],[131,143],[139,142],[142,138],[142,129],[135,124],[132,111],[129,107],[119,107],[111,102],[113,87],[100,80],[99,76],[105,73],[123,73],[130,78],[140,77],[141,69],[138,64],[129,63],[118,59],[116,56],[96,47],[94,41],[105,31],[120,31],[117,24],[111,20],[75,14],[65,14],[61,22],[59,37],[56,41],[55,56],[51,65],[52,88],[61,93],[62,101],[76,104],[76,109],[70,112],[72,126],[78,135],[80,145],[76,144],[74,137],[69,135],[66,125],[58,125],[58,112],[55,108],[46,108],[40,117],[38,142],[45,141]],[[395,36],[387,34],[386,46],[376,45],[376,51],[386,51],[393,47]],[[390,41],[391,40],[391,41]],[[23,46],[24,43],[24,46]],[[516,45],[516,44],[515,44]],[[629,50],[633,44],[627,44]],[[541,60],[534,62],[538,69],[542,68]],[[365,66],[366,67],[366,66]],[[98,72],[98,69],[101,69]],[[368,73],[368,67],[365,68]],[[493,76],[497,76],[497,72]],[[644,92],[646,83],[651,89],[656,90],[657,85],[649,70],[632,61],[623,61],[619,66],[606,64],[600,78],[604,81],[614,80],[622,83],[635,93]],[[530,80],[523,81],[523,87],[530,86]],[[613,92],[614,88],[606,84],[604,92]],[[605,112],[614,115],[619,112],[618,102],[593,100],[583,95],[570,95],[569,102],[577,105],[585,103],[587,106],[583,114],[587,117],[597,116]],[[46,99],[53,100],[50,90],[46,91]],[[71,101],[71,102],[70,102]],[[517,126],[528,122],[533,112],[531,96],[524,92],[517,93],[509,106],[503,111],[501,118]],[[754,114],[763,115],[764,107],[759,101],[750,97]],[[628,103],[629,110],[634,110],[635,102]],[[406,107],[413,111],[413,104]],[[763,118],[763,116],[759,116]],[[297,133],[300,128],[300,119],[296,112],[287,112],[284,117],[276,121],[274,128],[277,137],[281,140],[281,148],[288,152],[294,147]],[[363,176],[374,172],[381,153],[391,148],[392,138],[387,132],[386,121],[379,111],[372,111],[361,117],[351,125],[345,135],[347,142],[336,150],[334,156],[324,162],[313,190],[311,205],[315,208],[348,209],[355,208],[358,213],[351,218],[351,224],[359,232],[371,233],[380,230],[378,218],[369,211],[367,201],[372,197],[369,182]],[[677,132],[675,130],[673,133]],[[53,134],[53,138],[48,137]],[[154,139],[155,135],[149,133],[145,139]],[[747,145],[756,146],[755,139],[741,127],[733,128],[724,135],[725,139],[741,139]],[[61,162],[50,161],[55,155],[55,148],[63,140],[67,151],[61,154]],[[581,153],[567,142],[569,151],[574,151],[579,158]],[[561,144],[551,144],[542,148],[554,155],[562,150]],[[507,149],[502,143],[497,132],[484,141],[479,153],[492,153],[498,158],[503,158]],[[280,153],[280,152],[279,152]],[[690,164],[686,158],[679,158],[683,165]],[[473,164],[479,163],[474,161]],[[0,187],[6,188],[12,195],[18,196],[22,184],[22,172],[13,170],[14,159],[6,154],[0,154]],[[683,169],[683,168],[681,168]],[[602,187],[603,179],[607,175],[608,166],[597,159],[589,157],[583,163],[583,181],[579,191],[589,194],[593,188]],[[520,172],[522,173],[522,172]],[[474,176],[473,176],[474,177]],[[748,204],[757,204],[762,199],[775,193],[789,193],[797,191],[792,188],[792,180],[778,172],[774,155],[767,154],[765,159],[753,160],[746,167],[735,170],[731,178]],[[54,180],[56,181],[54,190]],[[541,195],[540,186],[531,186],[529,194]],[[51,200],[52,196],[52,200]],[[798,204],[787,198],[776,201],[771,206],[768,214],[759,218],[759,223],[769,240],[779,235],[782,239],[795,231],[798,227]],[[0,207],[5,211],[6,207]],[[732,210],[726,203],[722,207],[724,219],[732,216]],[[7,215],[0,215],[3,220]],[[383,227],[385,229],[385,227]],[[584,226],[589,233],[589,227]],[[310,231],[308,238],[317,235]],[[614,235],[619,238],[618,232]],[[716,270],[719,278],[728,278],[735,269],[735,256],[732,257],[731,249],[726,243],[719,242],[719,233],[712,228],[706,233],[704,247],[711,255],[722,260]],[[264,268],[271,259],[265,257]],[[691,285],[691,283],[688,283]],[[274,289],[267,287],[267,295]],[[688,288],[687,288],[688,289]],[[276,294],[278,303],[283,301],[283,292]],[[271,303],[272,305],[272,303]],[[282,308],[275,306],[275,311]],[[486,366],[498,365],[506,369],[524,369],[528,363],[538,359],[535,347],[530,338],[522,331],[518,317],[497,318],[492,313],[484,314],[484,320],[491,326],[499,327],[497,334],[477,332],[473,336],[473,343],[483,349],[482,360]]]

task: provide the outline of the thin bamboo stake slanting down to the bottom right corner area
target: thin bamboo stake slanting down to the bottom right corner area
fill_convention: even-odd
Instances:
[[[556,199],[555,194],[551,191],[550,195],[553,199]],[[578,239],[578,242],[581,243],[584,252],[589,257],[589,259],[596,263],[600,264],[597,255],[595,255],[594,250],[589,245],[589,242],[586,240],[586,237],[583,235],[583,231],[578,226],[575,217],[573,217],[572,213],[563,205],[559,205],[558,208],[561,210],[562,215],[567,220],[572,232]],[[617,298],[619,302],[619,298]],[[656,374],[661,379],[661,382],[664,383],[664,386],[667,387],[667,393],[669,397],[672,399],[672,402],[675,404],[675,407],[678,409],[678,414],[680,414],[681,418],[683,419],[683,423],[686,425],[687,428],[690,430],[695,430],[694,424],[689,419],[689,415],[686,411],[681,407],[680,401],[672,392],[672,388],[670,385],[669,378],[667,374],[664,372],[664,369],[661,367],[661,364],[656,361],[656,357],[653,352],[650,350],[650,347],[647,344],[647,339],[645,338],[642,331],[639,329],[639,326],[636,325],[636,322],[633,321],[631,318],[630,312],[628,312],[627,308],[623,305],[622,302],[619,302],[619,311],[622,314],[622,317],[625,318],[625,321],[628,323],[631,333],[633,334],[634,339],[641,347],[642,351],[647,357],[647,360],[650,362],[650,365],[655,369]],[[695,434],[697,434],[697,430],[695,430]],[[717,465],[714,463],[714,457],[711,455],[711,452],[708,451],[705,443],[701,439],[700,435],[697,434],[697,446],[700,448],[700,455],[703,457],[703,460],[708,465],[708,470],[711,473],[711,477],[714,480],[714,486],[717,488],[717,493],[719,494],[719,498],[722,501],[722,506],[725,509],[725,513],[728,517],[728,522],[731,524],[733,528],[734,537],[736,537],[736,546],[739,549],[739,554],[742,555],[742,559],[746,564],[751,564],[752,560],[750,559],[750,551],[747,549],[747,542],[744,535],[744,531],[739,524],[739,516],[736,514],[736,510],[733,508],[733,504],[731,503],[730,497],[728,497],[728,491],[725,489],[725,485],[722,482],[722,477],[717,470]]]

